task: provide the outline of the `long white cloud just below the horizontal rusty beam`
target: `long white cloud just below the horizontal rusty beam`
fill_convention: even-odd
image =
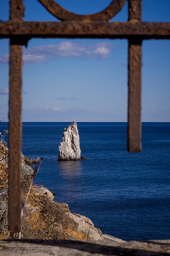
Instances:
[[[23,50],[24,64],[34,64],[57,58],[106,59],[109,58],[112,43],[101,42],[92,45],[63,41],[52,45],[39,45]],[[9,54],[0,56],[0,63],[8,63]]]

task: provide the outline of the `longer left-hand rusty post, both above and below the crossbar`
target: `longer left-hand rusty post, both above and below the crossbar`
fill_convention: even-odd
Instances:
[[[23,20],[23,0],[10,1],[10,20]],[[21,230],[22,45],[10,38],[9,230]]]

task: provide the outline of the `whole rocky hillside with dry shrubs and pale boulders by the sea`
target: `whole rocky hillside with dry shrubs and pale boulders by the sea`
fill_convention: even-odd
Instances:
[[[8,150],[0,154],[0,239],[16,239],[16,232],[8,231]],[[21,199],[24,201],[34,159],[21,153]],[[28,165],[29,164],[29,165]],[[53,193],[42,185],[32,185],[22,217],[22,238],[27,239],[92,239],[103,240],[103,234],[92,221],[80,214],[71,213],[65,203],[53,201]]]

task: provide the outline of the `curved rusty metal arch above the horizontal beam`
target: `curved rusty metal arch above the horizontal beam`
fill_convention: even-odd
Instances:
[[[38,0],[56,18],[65,21],[108,21],[123,7],[126,0],[113,0],[103,11],[95,14],[80,15],[65,10],[54,0]]]

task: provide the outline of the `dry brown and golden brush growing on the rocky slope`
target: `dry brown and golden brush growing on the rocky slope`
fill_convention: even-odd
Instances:
[[[4,141],[4,131],[0,140],[0,239],[16,239],[18,233],[8,230],[8,148]],[[32,169],[22,163],[21,200],[25,200],[29,190]],[[82,238],[75,231],[73,222],[66,212],[66,204],[52,201],[47,194],[41,194],[31,187],[24,206],[21,224],[21,238],[29,239],[69,239]]]

